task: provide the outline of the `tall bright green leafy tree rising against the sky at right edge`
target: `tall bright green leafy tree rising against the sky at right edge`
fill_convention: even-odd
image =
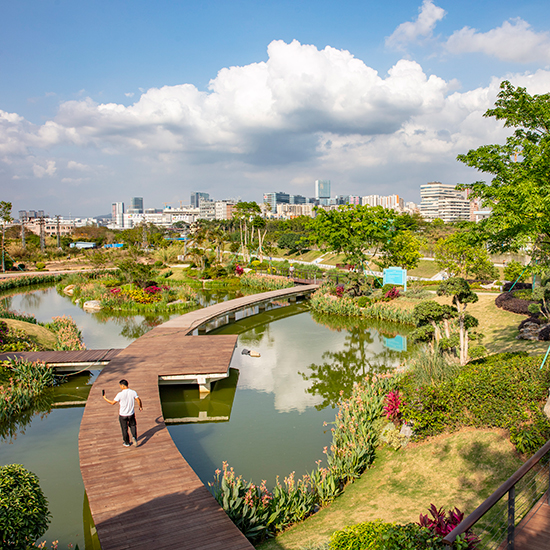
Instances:
[[[550,258],[550,94],[530,95],[504,81],[485,117],[514,128],[504,145],[483,145],[458,160],[492,176],[463,188],[479,197],[492,214],[481,222],[495,251],[529,242],[544,263]]]

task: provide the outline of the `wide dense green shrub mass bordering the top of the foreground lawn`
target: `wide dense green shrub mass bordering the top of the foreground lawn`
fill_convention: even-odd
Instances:
[[[472,361],[436,386],[419,387],[408,374],[401,381],[403,419],[414,425],[417,438],[461,426],[509,429],[518,450],[530,452],[537,438],[540,442],[550,436],[542,411],[550,370],[539,366],[540,358],[503,353]],[[520,438],[526,430],[529,435]]]

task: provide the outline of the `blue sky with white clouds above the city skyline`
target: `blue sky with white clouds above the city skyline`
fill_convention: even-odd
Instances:
[[[0,20],[0,200],[108,214],[487,179],[502,80],[550,92],[550,3],[18,0]]]

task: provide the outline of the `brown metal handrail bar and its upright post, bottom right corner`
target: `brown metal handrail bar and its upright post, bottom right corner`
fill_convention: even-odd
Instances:
[[[443,539],[443,542],[448,545],[447,548],[450,548],[450,545],[456,541],[459,535],[471,529],[506,493],[508,493],[508,548],[513,549],[515,532],[515,486],[540,462],[548,451],[550,451],[550,440]],[[550,504],[550,491],[548,491],[548,504]]]

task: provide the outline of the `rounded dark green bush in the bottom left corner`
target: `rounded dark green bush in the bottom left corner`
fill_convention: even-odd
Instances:
[[[0,468],[0,538],[2,548],[26,550],[50,523],[48,501],[38,478],[21,464]]]

